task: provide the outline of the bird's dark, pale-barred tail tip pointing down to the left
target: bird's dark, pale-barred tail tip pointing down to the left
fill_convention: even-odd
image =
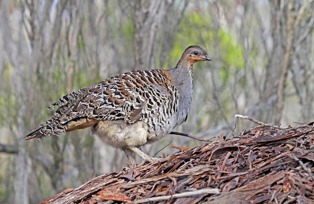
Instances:
[[[60,121],[56,120],[55,118],[50,118],[36,128],[31,129],[27,133],[24,133],[20,140],[24,141],[35,138],[43,139],[49,135],[61,135],[66,132],[66,129],[67,125],[61,124]]]

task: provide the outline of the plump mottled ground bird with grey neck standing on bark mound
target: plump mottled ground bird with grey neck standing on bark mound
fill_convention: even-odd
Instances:
[[[47,109],[57,110],[46,122],[24,133],[21,140],[43,139],[91,128],[105,143],[122,149],[130,167],[133,153],[154,162],[140,147],[157,141],[187,120],[193,93],[193,64],[212,61],[192,45],[170,69],[128,71],[69,93]]]

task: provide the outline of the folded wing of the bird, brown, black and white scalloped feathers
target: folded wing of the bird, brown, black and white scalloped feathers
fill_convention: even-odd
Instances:
[[[93,125],[95,120],[124,119],[134,123],[147,117],[145,113],[154,112],[161,104],[169,102],[173,88],[164,70],[126,72],[84,88],[80,91],[83,97],[78,95],[72,97],[75,98],[72,102],[60,102],[62,106],[53,117],[71,125],[71,130]]]

